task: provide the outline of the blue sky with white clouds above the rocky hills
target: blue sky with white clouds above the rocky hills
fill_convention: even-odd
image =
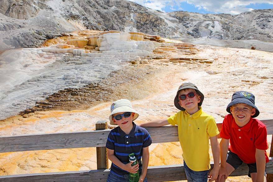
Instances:
[[[130,0],[162,12],[240,14],[254,9],[273,9],[273,0]]]

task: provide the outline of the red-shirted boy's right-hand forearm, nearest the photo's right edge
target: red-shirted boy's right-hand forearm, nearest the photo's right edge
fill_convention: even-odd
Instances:
[[[263,182],[265,168],[266,168],[265,151],[256,148],[255,158],[256,158],[256,165],[257,165],[256,182]]]

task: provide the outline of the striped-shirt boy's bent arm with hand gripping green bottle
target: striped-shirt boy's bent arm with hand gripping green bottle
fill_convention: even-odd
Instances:
[[[112,161],[116,166],[120,167],[123,170],[126,170],[130,173],[137,173],[138,170],[138,164],[131,166],[132,165],[132,161],[127,163],[127,164],[123,164],[115,155],[114,155],[115,150],[111,150],[111,149],[107,149],[107,156],[110,159],[110,161]]]

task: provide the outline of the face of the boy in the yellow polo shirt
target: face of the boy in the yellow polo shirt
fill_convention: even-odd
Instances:
[[[194,89],[191,89],[191,88],[190,89],[183,89],[183,90],[179,91],[178,98],[181,95],[183,95],[183,94],[187,95],[190,92],[195,92],[196,93],[196,91]],[[198,103],[200,101],[201,101],[201,96],[196,95],[196,96],[194,96],[192,98],[187,96],[185,100],[180,100],[179,99],[178,103],[179,103],[179,105],[181,107],[183,107],[185,110],[187,110],[187,112],[189,114],[194,114],[199,110],[198,109]]]

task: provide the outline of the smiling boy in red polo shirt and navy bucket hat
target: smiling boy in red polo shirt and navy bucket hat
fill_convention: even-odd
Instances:
[[[253,182],[266,181],[266,126],[257,117],[260,112],[255,96],[246,91],[235,92],[227,106],[220,137],[220,170],[217,181],[224,182],[243,162]],[[230,145],[229,145],[230,143]],[[229,152],[227,153],[227,151]],[[228,157],[227,157],[228,155]]]

